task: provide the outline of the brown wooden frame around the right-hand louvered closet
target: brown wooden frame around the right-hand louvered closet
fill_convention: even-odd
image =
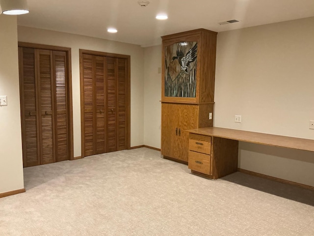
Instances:
[[[80,78],[80,123],[81,123],[81,157],[84,158],[84,90],[83,90],[83,54],[121,58],[127,60],[127,82],[126,82],[126,144],[127,149],[131,149],[131,56],[105,53],[98,51],[91,51],[79,49],[79,78]]]

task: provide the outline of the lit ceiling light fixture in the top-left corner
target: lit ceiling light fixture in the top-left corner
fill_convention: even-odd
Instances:
[[[2,13],[6,15],[22,15],[29,12],[26,0],[0,0]]]

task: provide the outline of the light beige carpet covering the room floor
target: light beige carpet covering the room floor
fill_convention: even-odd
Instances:
[[[25,168],[26,193],[0,199],[0,235],[314,236],[314,191],[189,173],[148,148]]]

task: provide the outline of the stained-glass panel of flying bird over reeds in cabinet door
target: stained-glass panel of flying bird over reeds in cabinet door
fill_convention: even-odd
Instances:
[[[179,42],[165,47],[165,96],[195,97],[197,42]]]

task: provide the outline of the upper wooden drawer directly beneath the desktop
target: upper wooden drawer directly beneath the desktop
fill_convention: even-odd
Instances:
[[[210,155],[211,137],[199,134],[189,134],[188,149]]]

